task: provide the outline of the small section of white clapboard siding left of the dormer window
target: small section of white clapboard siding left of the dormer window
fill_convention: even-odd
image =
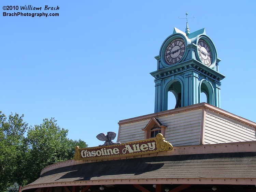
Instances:
[[[141,129],[144,129],[149,121],[145,120],[120,125],[119,142],[126,143],[143,140],[145,132]]]

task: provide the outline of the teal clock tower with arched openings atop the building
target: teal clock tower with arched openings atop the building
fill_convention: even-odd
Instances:
[[[200,103],[200,93],[207,103],[221,107],[220,87],[225,78],[219,73],[216,48],[204,29],[186,33],[174,28],[162,44],[157,60],[155,77],[155,113],[167,110],[168,92],[176,98],[176,106]]]

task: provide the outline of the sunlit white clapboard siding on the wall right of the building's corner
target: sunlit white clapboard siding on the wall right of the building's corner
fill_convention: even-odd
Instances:
[[[255,130],[228,117],[207,112],[204,144],[256,141]]]

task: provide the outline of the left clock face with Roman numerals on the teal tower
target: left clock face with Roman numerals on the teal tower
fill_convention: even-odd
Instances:
[[[172,40],[165,49],[165,62],[168,65],[179,62],[185,53],[185,47],[185,41],[182,38]]]

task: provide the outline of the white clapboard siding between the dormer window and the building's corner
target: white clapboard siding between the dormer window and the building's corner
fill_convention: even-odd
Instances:
[[[202,110],[193,110],[179,114],[159,117],[165,126],[165,139],[173,146],[199,145]]]

